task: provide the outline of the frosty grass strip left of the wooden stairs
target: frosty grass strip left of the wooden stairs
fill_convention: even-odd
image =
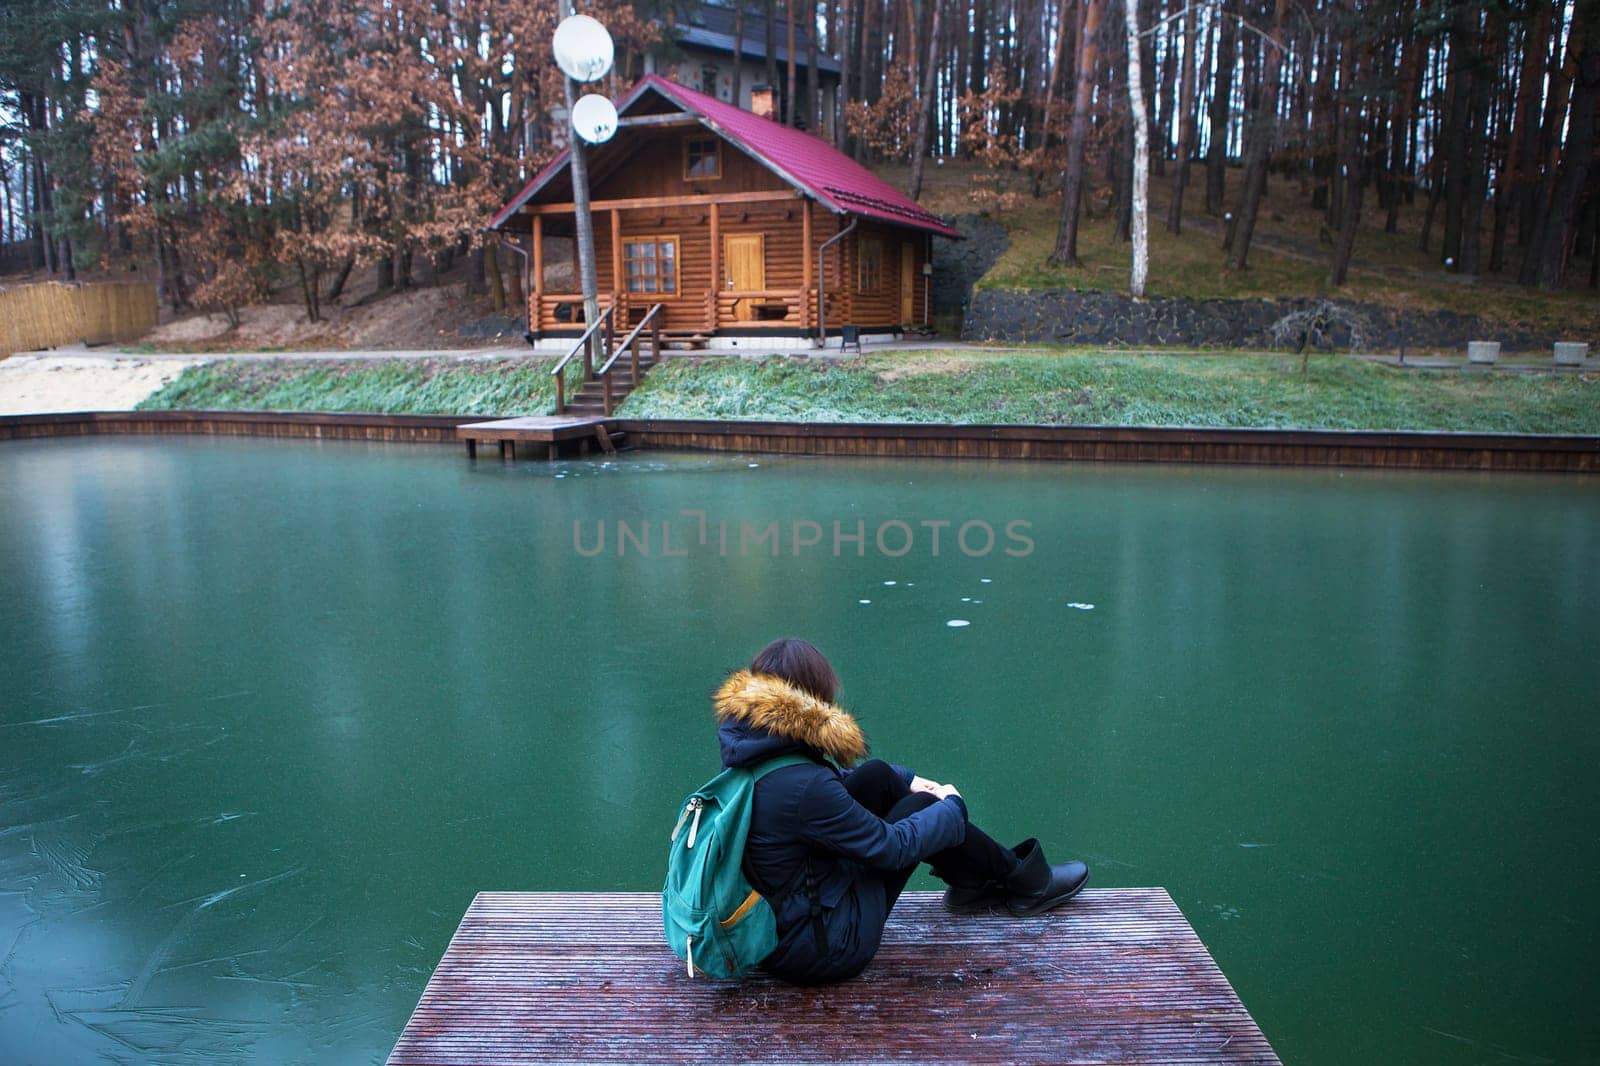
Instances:
[[[139,408],[546,415],[555,403],[552,362],[227,359],[184,370]]]

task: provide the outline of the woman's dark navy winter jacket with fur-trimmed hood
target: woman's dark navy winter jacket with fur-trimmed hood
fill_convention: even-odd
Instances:
[[[962,802],[883,821],[845,791],[848,767],[867,749],[850,714],[749,671],[731,675],[714,699],[725,767],[754,768],[789,754],[811,759],[755,786],[744,874],[771,903],[779,938],[762,968],[797,984],[854,976],[877,952],[888,919],[882,876],[960,844]],[[898,770],[909,784],[910,771]]]

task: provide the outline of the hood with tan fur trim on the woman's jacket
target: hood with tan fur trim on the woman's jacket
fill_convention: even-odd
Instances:
[[[842,767],[867,754],[867,738],[846,711],[773,674],[738,671],[712,696],[723,763],[750,765],[794,746],[819,751]]]

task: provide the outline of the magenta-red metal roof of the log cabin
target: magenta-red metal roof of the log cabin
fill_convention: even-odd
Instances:
[[[701,125],[834,211],[909,226],[941,237],[962,237],[938,214],[917,206],[904,192],[827,141],[771,118],[762,118],[706,93],[683,88],[659,74],[646,74],[622,99],[618,112],[626,115],[627,109],[650,90],[666,96],[686,114],[699,115]],[[517,208],[531,200],[550,178],[566,166],[566,158],[568,154],[563,150],[549,166],[541,170],[510,203],[501,208],[490,222],[490,229],[499,229]]]

